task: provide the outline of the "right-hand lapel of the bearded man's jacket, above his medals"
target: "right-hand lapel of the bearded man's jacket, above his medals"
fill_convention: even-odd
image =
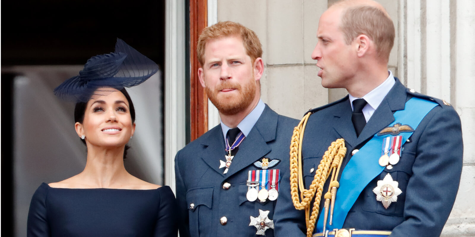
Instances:
[[[271,151],[267,142],[276,139],[277,113],[267,105],[247,137],[239,145],[239,151],[233,158],[233,163],[227,177],[239,172]]]

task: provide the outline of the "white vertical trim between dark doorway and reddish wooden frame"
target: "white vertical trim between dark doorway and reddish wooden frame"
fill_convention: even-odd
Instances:
[[[185,2],[165,3],[165,185],[175,191],[175,154],[185,146]]]

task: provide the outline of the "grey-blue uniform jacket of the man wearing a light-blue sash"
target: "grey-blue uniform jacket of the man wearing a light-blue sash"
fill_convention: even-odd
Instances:
[[[343,228],[361,230],[392,230],[390,237],[439,236],[452,210],[462,171],[462,131],[460,118],[450,105],[419,93],[410,92],[396,78],[395,85],[356,137],[352,125],[352,109],[348,96],[321,108],[314,109],[308,119],[303,141],[304,182],[308,189],[318,164],[328,146],[337,138],[345,139],[346,156],[342,169],[352,157],[381,129],[395,118],[393,113],[404,109],[412,97],[437,102],[403,145],[399,163],[391,170],[385,168],[360,193],[348,212]],[[360,171],[361,173],[364,170]],[[390,173],[399,183],[402,193],[397,201],[385,209],[372,191],[379,180]],[[341,174],[341,172],[340,172]],[[284,179],[289,179],[287,174]],[[281,182],[288,184],[288,182]],[[328,190],[327,182],[323,194]],[[304,236],[304,212],[293,208],[290,187],[281,185],[275,218],[276,236]],[[322,195],[323,196],[323,195]],[[312,202],[313,203],[313,202]],[[323,211],[322,197],[320,211]],[[335,209],[338,207],[335,206]],[[299,223],[293,225],[293,223]],[[298,234],[296,234],[298,232]],[[306,231],[305,231],[306,232]]]

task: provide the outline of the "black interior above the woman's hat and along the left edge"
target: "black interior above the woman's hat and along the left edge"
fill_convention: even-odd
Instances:
[[[157,63],[163,77],[165,1],[10,0],[1,7],[1,234],[16,236],[11,113],[16,75],[4,69],[85,64],[91,56],[113,52],[118,37]]]

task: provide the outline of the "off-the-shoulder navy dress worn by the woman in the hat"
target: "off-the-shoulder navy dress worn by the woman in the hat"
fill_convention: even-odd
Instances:
[[[28,237],[176,237],[175,196],[153,190],[66,189],[42,183],[31,200]]]

